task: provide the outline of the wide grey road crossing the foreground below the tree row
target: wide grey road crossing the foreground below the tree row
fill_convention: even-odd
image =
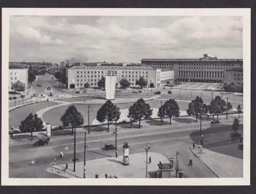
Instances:
[[[203,126],[206,128],[206,126]],[[186,168],[187,160],[191,156],[189,147],[191,139],[189,134],[198,131],[198,126],[189,127],[165,126],[162,128],[148,128],[142,131],[120,131],[118,134],[118,153],[122,154],[122,145],[124,141],[129,141],[131,146],[130,153],[143,152],[146,142],[152,145],[151,152],[165,155],[168,158],[174,158],[176,150],[181,154],[180,167]],[[216,125],[214,131],[209,133],[223,133]],[[114,150],[106,151],[102,149],[105,143],[114,144],[115,136],[111,133],[94,134],[91,133],[87,137],[87,160],[114,156]],[[224,140],[225,138],[223,138]],[[226,137],[227,139],[227,137]],[[209,143],[209,141],[208,141]],[[212,139],[211,146],[217,146],[218,141]],[[83,159],[83,135],[78,134],[76,139],[76,156]],[[65,149],[67,148],[67,149]],[[65,157],[60,159],[59,153],[63,152]],[[9,147],[9,176],[10,177],[30,177],[30,178],[54,178],[55,175],[47,173],[47,166],[57,160],[60,164],[70,163],[73,158],[73,137],[55,137],[51,138],[48,145],[41,147],[33,147],[32,143],[10,145]],[[30,161],[34,159],[35,164],[31,165]],[[203,163],[197,158],[193,158],[195,163],[194,172],[188,177],[214,177],[214,175],[204,167]],[[197,170],[196,170],[197,169]]]

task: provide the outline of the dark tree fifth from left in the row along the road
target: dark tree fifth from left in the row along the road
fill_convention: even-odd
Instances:
[[[161,108],[161,107],[160,107]],[[164,116],[169,117],[170,122],[169,124],[172,124],[172,117],[179,117],[180,116],[180,107],[178,103],[175,101],[175,99],[169,99],[166,102],[164,102],[163,107]]]

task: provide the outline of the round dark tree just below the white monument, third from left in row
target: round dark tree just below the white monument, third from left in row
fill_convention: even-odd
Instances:
[[[108,121],[108,132],[110,131],[109,122],[117,121],[120,118],[121,112],[119,107],[113,104],[110,100],[106,101],[97,112],[97,120],[99,122]]]

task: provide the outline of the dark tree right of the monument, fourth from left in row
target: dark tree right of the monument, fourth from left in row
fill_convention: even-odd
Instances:
[[[139,120],[139,128],[140,128],[140,121],[142,118],[144,119],[150,119],[152,116],[153,110],[150,107],[150,104],[145,103],[145,101],[140,98],[137,100],[137,102],[133,103],[129,107],[129,114],[128,118],[134,121]]]

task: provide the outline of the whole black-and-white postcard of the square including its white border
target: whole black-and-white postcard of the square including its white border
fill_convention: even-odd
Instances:
[[[250,9],[3,14],[3,184],[250,184]]]

